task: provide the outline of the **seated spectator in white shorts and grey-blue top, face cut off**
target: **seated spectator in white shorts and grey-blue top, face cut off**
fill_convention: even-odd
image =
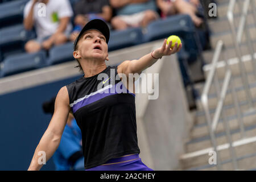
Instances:
[[[117,16],[112,19],[115,30],[125,30],[128,27],[146,27],[158,19],[154,0],[110,0]]]

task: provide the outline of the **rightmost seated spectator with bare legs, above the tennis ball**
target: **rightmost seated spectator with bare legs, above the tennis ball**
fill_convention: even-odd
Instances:
[[[201,8],[199,0],[156,0],[156,4],[161,11],[162,18],[181,13],[190,15],[196,27],[203,23],[203,19],[196,15]]]

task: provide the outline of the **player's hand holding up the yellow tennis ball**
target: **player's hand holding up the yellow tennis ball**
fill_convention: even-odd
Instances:
[[[162,56],[170,56],[176,52],[179,52],[182,48],[182,43],[180,43],[179,48],[177,47],[177,43],[175,43],[175,46],[171,48],[172,41],[169,42],[167,45],[167,39],[164,39],[163,46],[159,47],[158,49],[155,49],[153,52],[154,57],[162,57]]]

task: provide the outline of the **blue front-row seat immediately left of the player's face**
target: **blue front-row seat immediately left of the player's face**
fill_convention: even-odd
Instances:
[[[49,50],[49,59],[47,65],[59,64],[65,61],[74,60],[73,57],[73,42],[55,46]]]

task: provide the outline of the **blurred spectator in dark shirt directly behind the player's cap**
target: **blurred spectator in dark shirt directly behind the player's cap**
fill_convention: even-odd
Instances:
[[[80,0],[75,4],[75,28],[70,36],[70,40],[75,41],[77,35],[89,20],[102,19],[106,23],[112,18],[112,7],[109,0]]]

